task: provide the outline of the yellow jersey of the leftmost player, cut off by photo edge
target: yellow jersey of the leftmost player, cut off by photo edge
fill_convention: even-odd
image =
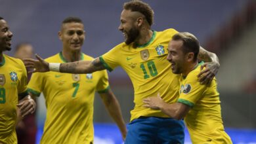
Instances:
[[[15,144],[18,96],[27,92],[27,72],[21,60],[3,54],[0,63],[0,143]]]

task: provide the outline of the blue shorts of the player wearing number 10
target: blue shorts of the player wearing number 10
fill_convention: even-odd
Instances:
[[[184,143],[184,122],[173,118],[140,117],[127,126],[125,144]]]

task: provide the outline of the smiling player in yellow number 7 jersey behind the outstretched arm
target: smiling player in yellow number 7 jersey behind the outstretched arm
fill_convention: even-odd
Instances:
[[[58,37],[62,51],[46,59],[47,62],[78,62],[93,60],[81,52],[85,31],[80,18],[68,17],[62,22]],[[33,73],[29,84],[32,96],[45,96],[47,116],[42,144],[93,143],[93,101],[100,94],[106,109],[119,126],[123,138],[125,122],[119,103],[108,84],[107,71],[83,75],[58,72]]]

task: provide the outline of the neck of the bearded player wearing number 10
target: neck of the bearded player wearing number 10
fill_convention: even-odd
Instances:
[[[137,45],[145,45],[151,40],[152,36],[153,36],[153,31],[151,29],[142,29],[135,43]]]

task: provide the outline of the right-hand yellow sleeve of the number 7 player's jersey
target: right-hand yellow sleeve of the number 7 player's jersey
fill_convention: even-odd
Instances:
[[[101,77],[98,81],[98,84],[96,85],[96,91],[98,94],[102,94],[107,92],[110,89],[109,83],[108,83],[108,73],[106,70],[100,71]]]

